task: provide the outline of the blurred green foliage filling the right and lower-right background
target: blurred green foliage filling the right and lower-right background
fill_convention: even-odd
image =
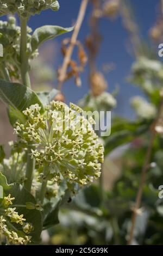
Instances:
[[[130,121],[121,117],[112,118],[111,135],[103,137],[105,157],[114,150],[126,145],[117,154],[121,162],[121,175],[114,182],[112,190],[103,187],[101,182],[80,191],[78,196],[67,203],[59,214],[60,224],[49,229],[50,242],[60,245],[125,245],[131,222],[132,207],[140,184],[142,166],[151,133],[151,124],[156,118],[148,111],[151,103],[157,109],[160,104],[162,89],[162,63],[158,60],[138,59],[133,65],[131,80],[146,94],[146,115],[139,111],[137,118]],[[156,85],[156,86],[155,86]],[[93,98],[91,98],[93,97]],[[95,96],[90,94],[80,103],[92,106]],[[143,101],[143,99],[142,99]],[[146,103],[148,102],[148,104]],[[105,105],[106,106],[106,105]],[[108,106],[108,108],[107,108]],[[105,111],[110,111],[107,104]],[[103,105],[98,106],[98,111]],[[134,106],[133,106],[134,107]],[[144,107],[144,106],[143,106]],[[138,113],[137,113],[138,111]],[[149,113],[149,115],[148,115]],[[161,245],[163,241],[163,201],[159,199],[159,186],[163,184],[163,137],[155,138],[151,163],[149,164],[146,183],[143,186],[143,196],[140,214],[136,218],[133,244]],[[108,170],[105,172],[114,172]]]

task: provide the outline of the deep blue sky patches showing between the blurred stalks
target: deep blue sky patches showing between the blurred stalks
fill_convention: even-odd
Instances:
[[[33,30],[43,25],[70,27],[72,23],[76,21],[80,2],[80,0],[59,0],[59,11],[43,11],[41,15],[33,16],[28,25],[32,27]],[[142,36],[146,39],[149,28],[156,20],[156,6],[158,5],[159,0],[130,0],[130,3],[133,5],[136,19],[141,28]],[[84,41],[85,36],[89,34],[88,22],[90,11],[91,6],[89,5],[79,34],[79,40],[82,42]],[[118,104],[115,112],[127,117],[132,117],[133,111],[129,106],[129,99],[131,96],[141,94],[141,92],[139,88],[131,86],[126,81],[126,78],[130,74],[130,66],[134,61],[134,58],[127,52],[126,49],[125,43],[127,40],[129,40],[128,34],[126,29],[124,29],[122,26],[122,20],[120,17],[113,22],[108,19],[103,19],[100,22],[100,30],[103,36],[103,43],[97,57],[98,69],[102,70],[103,64],[115,63],[116,70],[105,74],[109,84],[108,91],[112,92],[112,90],[115,89],[116,84],[120,86],[120,92],[117,96]],[[59,53],[59,46],[61,44],[61,40],[65,37],[67,37],[67,34],[55,39],[58,47],[58,54],[57,60],[54,62],[54,69],[62,63],[62,57]],[[81,76],[83,82],[82,88],[77,88],[73,80],[70,80],[64,84],[63,92],[66,95],[66,102],[78,102],[78,100],[89,90],[87,75],[86,67],[85,72]]]

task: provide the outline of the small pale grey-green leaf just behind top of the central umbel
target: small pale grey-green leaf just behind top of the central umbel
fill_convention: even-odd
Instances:
[[[59,90],[53,89],[51,92],[37,92],[37,95],[39,96],[42,104],[45,106],[48,105],[58,93]]]

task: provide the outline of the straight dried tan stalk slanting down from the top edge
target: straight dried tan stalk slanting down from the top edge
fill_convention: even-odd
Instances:
[[[76,41],[77,41],[77,37],[78,37],[79,31],[80,31],[80,27],[82,26],[82,23],[83,23],[83,19],[84,19],[84,16],[85,16],[85,11],[86,11],[88,2],[89,2],[89,0],[83,0],[81,5],[80,5],[79,14],[78,14],[78,18],[77,18],[77,23],[76,23],[76,26],[74,27],[74,31],[73,31],[73,34],[72,34],[70,45],[68,46],[68,48],[66,50],[64,62],[63,62],[62,66],[61,66],[61,69],[60,69],[60,74],[59,74],[59,78],[58,78],[58,81],[59,81],[58,82],[58,89],[59,90],[61,90],[62,84],[65,81],[67,68],[68,68],[68,65],[69,65],[70,60],[71,60],[74,45],[76,45]]]

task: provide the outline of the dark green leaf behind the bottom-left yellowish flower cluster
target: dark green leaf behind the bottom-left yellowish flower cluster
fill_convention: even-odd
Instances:
[[[30,194],[26,188],[24,188],[20,184],[14,184],[10,190],[10,194],[12,197],[15,197],[13,201],[13,205],[24,205],[26,206],[26,202],[30,202],[36,204],[35,198]],[[26,207],[18,207],[16,206],[16,211],[18,214],[23,214],[24,218],[26,218],[26,222],[32,223],[34,230],[29,234],[32,236],[32,244],[39,244],[40,243],[40,235],[42,231],[42,216],[39,210],[31,210],[27,209]],[[18,227],[17,224],[12,223],[15,227],[22,230],[22,227]]]

